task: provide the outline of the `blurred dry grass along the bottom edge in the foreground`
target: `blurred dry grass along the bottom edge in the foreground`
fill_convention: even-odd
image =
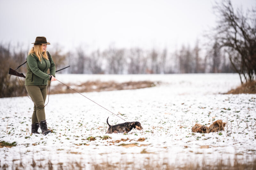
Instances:
[[[146,150],[143,150],[141,154],[147,154]],[[230,159],[219,159],[216,162],[206,163],[205,160],[197,160],[197,161],[185,161],[185,164],[180,164],[179,161],[176,161],[175,164],[170,164],[168,162],[168,158],[154,160],[153,158],[146,157],[144,160],[134,159],[133,161],[127,161],[126,159],[121,159],[117,163],[112,163],[109,161],[103,161],[102,163],[95,163],[93,160],[91,162],[82,163],[80,161],[70,161],[67,163],[56,163],[53,164],[51,160],[44,161],[45,165],[42,161],[32,159],[29,164],[23,163],[21,160],[13,160],[12,165],[1,164],[0,161],[0,169],[72,169],[72,170],[81,170],[81,169],[92,169],[92,170],[173,170],[173,169],[181,169],[181,170],[254,170],[256,169],[256,158],[253,155],[250,156],[249,159],[237,159],[235,157],[234,160]],[[19,163],[16,163],[19,162]],[[140,162],[140,163],[139,163]],[[1,166],[2,165],[2,166]]]

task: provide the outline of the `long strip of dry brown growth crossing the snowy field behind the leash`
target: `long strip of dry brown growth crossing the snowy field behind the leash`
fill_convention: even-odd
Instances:
[[[124,83],[117,83],[115,81],[102,82],[102,81],[87,81],[85,83],[67,84],[77,92],[101,92],[101,91],[113,91],[113,90],[132,90],[140,88],[154,87],[160,84],[160,82],[151,81],[129,81]],[[75,91],[70,89],[64,84],[56,85],[51,87],[51,94],[62,94],[62,93],[74,93]]]

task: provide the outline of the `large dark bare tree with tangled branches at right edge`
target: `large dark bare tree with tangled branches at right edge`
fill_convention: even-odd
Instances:
[[[240,76],[241,83],[256,79],[256,10],[233,9],[230,0],[216,4],[219,18],[215,37],[224,48],[230,63]]]

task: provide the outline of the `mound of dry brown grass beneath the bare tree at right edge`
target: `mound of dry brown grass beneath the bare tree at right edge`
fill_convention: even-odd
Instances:
[[[240,94],[240,93],[249,93],[256,94],[256,81],[247,82],[243,85],[240,85],[236,89],[232,89],[225,94]]]

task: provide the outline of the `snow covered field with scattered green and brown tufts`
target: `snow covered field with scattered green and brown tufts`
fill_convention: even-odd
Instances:
[[[85,169],[90,169],[92,162],[126,161],[139,165],[148,159],[181,165],[202,159],[232,160],[235,156],[247,160],[256,154],[256,95],[221,94],[240,85],[238,74],[57,74],[56,78],[63,83],[88,80],[162,83],[137,90],[83,93],[126,121],[141,123],[143,130],[133,129],[125,135],[105,134],[108,116],[111,125],[124,120],[78,93],[50,95],[45,107],[46,121],[54,133],[46,136],[30,136],[33,103],[28,97],[0,99],[0,141],[17,143],[11,148],[0,148],[0,167],[7,164],[11,168],[13,162],[22,161],[23,166],[32,169],[32,159],[43,168],[49,159],[56,167],[58,163],[65,166],[77,161]],[[209,126],[218,119],[228,123],[225,131],[209,134],[191,131],[195,123]],[[90,141],[91,137],[95,140]]]

